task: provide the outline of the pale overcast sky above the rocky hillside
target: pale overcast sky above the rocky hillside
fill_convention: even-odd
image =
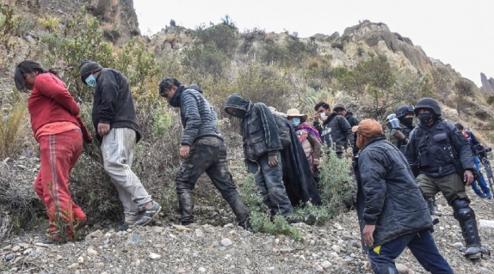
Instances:
[[[154,34],[170,19],[193,29],[220,23],[228,14],[240,31],[343,33],[359,20],[386,23],[412,39],[427,56],[450,64],[479,87],[480,72],[494,78],[494,0],[134,0],[142,34]]]

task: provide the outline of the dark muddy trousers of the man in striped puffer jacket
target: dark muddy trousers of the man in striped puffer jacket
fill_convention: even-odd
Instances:
[[[208,174],[213,185],[230,205],[239,225],[244,225],[248,219],[247,207],[240,198],[237,186],[228,171],[224,143],[216,137],[203,137],[194,141],[189,150],[189,158],[180,165],[175,179],[178,205],[182,215],[180,220],[183,223],[193,222],[192,190],[203,172]]]

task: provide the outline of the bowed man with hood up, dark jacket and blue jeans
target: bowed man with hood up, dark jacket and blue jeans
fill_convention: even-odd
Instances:
[[[268,106],[252,103],[233,93],[226,98],[224,111],[242,119],[244,157],[271,215],[288,217],[293,207],[283,185],[281,141],[277,122]]]

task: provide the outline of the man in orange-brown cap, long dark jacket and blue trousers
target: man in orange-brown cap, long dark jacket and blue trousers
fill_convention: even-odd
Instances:
[[[453,273],[430,233],[432,220],[408,163],[386,141],[381,125],[353,127],[360,153],[354,161],[362,247],[374,273],[398,273],[395,259],[408,247],[425,270]]]

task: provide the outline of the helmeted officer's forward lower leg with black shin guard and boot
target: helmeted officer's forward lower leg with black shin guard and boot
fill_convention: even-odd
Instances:
[[[456,200],[452,204],[454,209],[454,217],[460,222],[462,236],[466,247],[462,248],[465,257],[470,260],[475,260],[482,257],[482,254],[491,255],[491,251],[482,247],[480,244],[480,236],[475,220],[475,212],[469,206],[467,201]]]

